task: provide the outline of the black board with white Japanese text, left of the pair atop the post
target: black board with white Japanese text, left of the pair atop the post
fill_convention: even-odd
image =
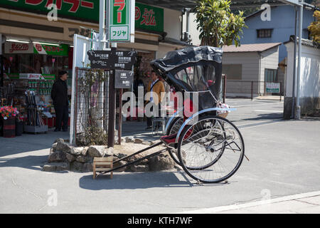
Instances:
[[[110,69],[114,66],[112,51],[87,51],[92,69]]]

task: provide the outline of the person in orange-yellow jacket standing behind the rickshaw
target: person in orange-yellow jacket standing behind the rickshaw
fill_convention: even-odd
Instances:
[[[158,76],[156,76],[156,72],[155,71],[151,71],[151,81],[149,81],[149,85],[146,88],[146,92],[151,92],[149,98],[147,97],[146,100],[149,101],[149,103],[154,103],[154,105],[159,105],[159,116],[160,116],[160,103],[162,100],[161,97],[161,92],[164,93],[164,83],[162,81],[159,80]],[[158,96],[158,99],[154,99],[153,97],[153,93],[154,95]],[[162,94],[163,95],[163,94]],[[154,113],[153,108],[151,109],[151,111]],[[147,117],[146,118],[146,130],[149,130],[152,128],[152,118],[151,117]],[[159,125],[156,125],[156,129],[159,128]]]

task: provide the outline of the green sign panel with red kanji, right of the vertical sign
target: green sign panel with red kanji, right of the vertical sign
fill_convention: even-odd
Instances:
[[[164,9],[136,3],[134,21],[136,28],[164,31]]]

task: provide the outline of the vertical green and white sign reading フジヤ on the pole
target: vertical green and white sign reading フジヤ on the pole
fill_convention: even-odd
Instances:
[[[110,0],[110,41],[134,42],[134,1]]]

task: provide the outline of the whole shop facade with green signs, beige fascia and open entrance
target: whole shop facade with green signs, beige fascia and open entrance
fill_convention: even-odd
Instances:
[[[7,100],[1,102],[14,105],[21,113],[26,112],[23,110],[23,99],[26,100],[24,93],[33,90],[42,108],[41,113],[49,117],[45,124],[53,127],[54,120],[50,120],[50,116],[54,117],[51,86],[58,71],[65,70],[69,72],[68,93],[72,93],[73,35],[78,33],[90,37],[92,31],[99,31],[99,1],[81,1],[78,7],[61,1],[56,21],[48,18],[48,2],[4,0],[0,3],[1,86],[4,90],[10,88],[6,91]],[[137,51],[139,64],[135,74],[144,81],[146,87],[151,71],[149,62],[183,45],[164,42],[166,9],[136,3],[135,10],[135,41],[118,43],[117,48]],[[176,24],[179,25],[180,21],[177,20]]]

